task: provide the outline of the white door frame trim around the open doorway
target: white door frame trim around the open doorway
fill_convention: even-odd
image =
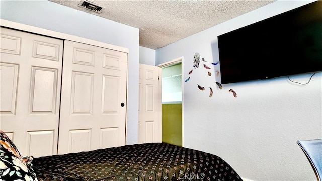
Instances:
[[[172,66],[172,65],[176,65],[176,64],[179,64],[181,63],[181,75],[183,73],[183,56],[182,57],[179,57],[179,58],[175,58],[171,61],[168,61],[168,62],[164,62],[164,63],[161,63],[161,64],[158,64],[156,66],[160,67],[160,68],[164,68],[164,67],[168,67],[168,66]],[[162,83],[161,83],[162,84]],[[181,127],[181,130],[182,130],[182,146],[184,147],[185,146],[185,133],[184,133],[184,116],[183,116],[183,111],[184,111],[184,97],[183,97],[183,79],[181,79],[181,124],[182,124],[182,127]],[[162,103],[161,103],[162,104]]]

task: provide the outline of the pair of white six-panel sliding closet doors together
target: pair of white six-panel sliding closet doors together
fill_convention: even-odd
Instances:
[[[0,129],[22,155],[125,145],[127,53],[0,33]]]

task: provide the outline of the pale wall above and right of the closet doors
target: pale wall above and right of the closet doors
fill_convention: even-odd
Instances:
[[[137,143],[139,30],[49,1],[0,1],[1,19],[129,49],[127,144]]]

